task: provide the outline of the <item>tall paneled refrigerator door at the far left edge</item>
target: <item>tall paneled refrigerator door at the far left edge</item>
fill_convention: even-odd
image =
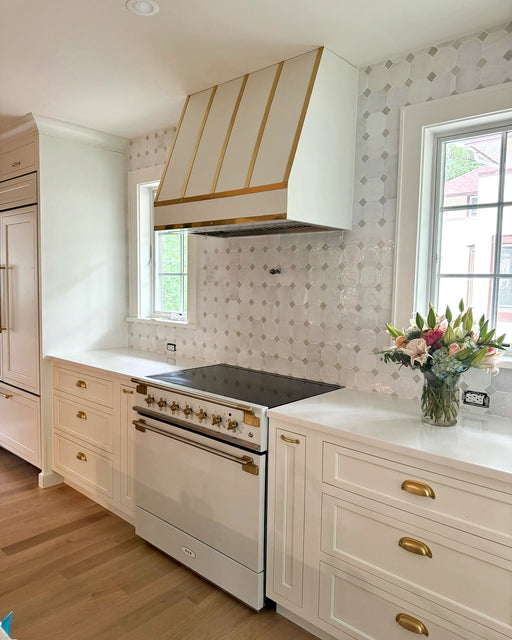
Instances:
[[[37,209],[0,216],[2,380],[39,393]]]

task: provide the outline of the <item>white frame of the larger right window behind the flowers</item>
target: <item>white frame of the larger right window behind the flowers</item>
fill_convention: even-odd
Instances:
[[[498,85],[402,107],[398,159],[392,322],[407,327],[429,302],[437,139],[505,125],[512,118],[512,86]],[[501,365],[512,367],[512,350]]]

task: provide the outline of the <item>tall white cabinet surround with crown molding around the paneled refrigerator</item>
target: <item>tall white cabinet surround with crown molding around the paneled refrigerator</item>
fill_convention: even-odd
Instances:
[[[40,397],[30,461],[41,486],[62,481],[52,465],[45,357],[127,341],[127,142],[32,114],[0,134],[1,380]]]

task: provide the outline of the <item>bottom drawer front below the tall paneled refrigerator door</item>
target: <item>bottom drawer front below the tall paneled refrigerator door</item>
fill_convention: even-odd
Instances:
[[[41,468],[39,398],[0,387],[0,445]]]

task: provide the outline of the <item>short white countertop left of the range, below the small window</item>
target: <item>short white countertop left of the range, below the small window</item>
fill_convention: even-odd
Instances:
[[[167,373],[168,371],[179,371],[180,369],[191,369],[192,367],[212,364],[211,362],[192,358],[134,351],[128,347],[81,351],[78,353],[59,353],[49,357],[54,361],[79,364],[133,378],[145,378],[159,373]]]

